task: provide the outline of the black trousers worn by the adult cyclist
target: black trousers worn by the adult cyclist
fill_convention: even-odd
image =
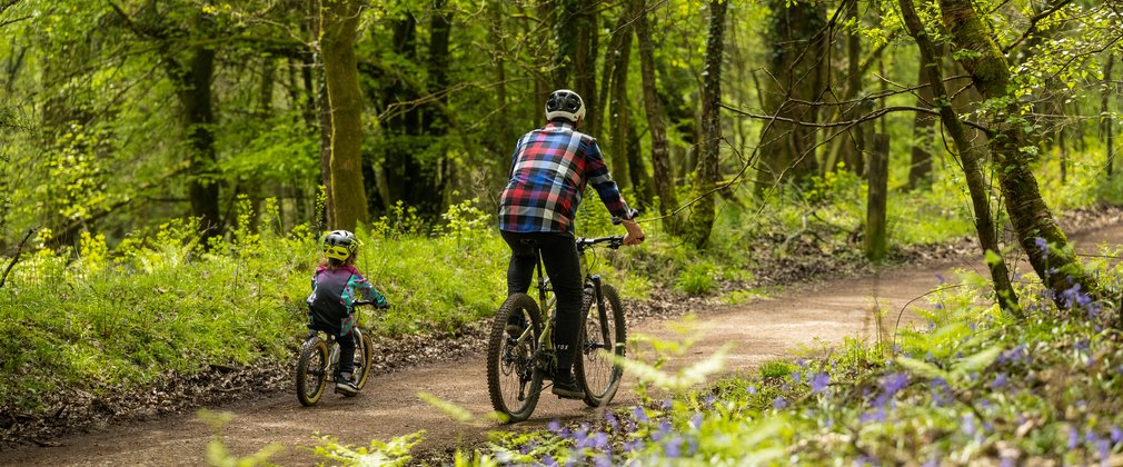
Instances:
[[[581,323],[583,285],[577,244],[564,232],[508,232],[501,231],[511,247],[511,264],[506,268],[506,293],[526,293],[530,289],[535,267],[538,265],[537,245],[546,266],[546,275],[557,296],[557,328],[554,345],[558,350],[558,366],[567,370],[573,365],[573,346]]]

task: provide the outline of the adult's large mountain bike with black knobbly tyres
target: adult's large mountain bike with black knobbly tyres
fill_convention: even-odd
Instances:
[[[585,292],[574,376],[585,391],[585,404],[596,408],[611,402],[620,387],[623,367],[614,357],[624,356],[628,339],[620,295],[600,275],[593,274],[590,265],[595,263],[595,246],[617,249],[623,245],[623,237],[578,238],[576,241]],[[586,260],[586,253],[593,254],[593,262]],[[553,339],[556,297],[542,267],[539,253],[538,300],[526,293],[508,296],[489,333],[487,392],[492,406],[506,422],[520,422],[530,416],[545,390],[542,381],[553,379],[557,370]],[[512,332],[509,327],[512,322],[527,326]]]

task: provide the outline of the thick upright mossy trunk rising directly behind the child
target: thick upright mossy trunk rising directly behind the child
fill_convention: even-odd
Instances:
[[[323,0],[320,9],[320,51],[331,116],[328,196],[332,229],[354,230],[368,220],[362,171],[363,95],[355,58],[360,4],[357,0]]]

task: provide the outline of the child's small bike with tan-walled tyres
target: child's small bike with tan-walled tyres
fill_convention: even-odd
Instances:
[[[355,301],[355,306],[378,306],[376,302],[359,300]],[[355,386],[359,390],[366,384],[367,376],[371,375],[371,337],[358,327],[358,310],[355,311],[356,323],[351,328],[351,336],[355,338],[355,370],[351,374]],[[328,383],[335,383],[339,368],[339,344],[336,336],[323,331],[308,331],[308,338],[300,348],[300,358],[296,359],[296,399],[303,405],[316,405],[323,396],[323,390]],[[356,394],[340,392],[340,394],[351,397]]]

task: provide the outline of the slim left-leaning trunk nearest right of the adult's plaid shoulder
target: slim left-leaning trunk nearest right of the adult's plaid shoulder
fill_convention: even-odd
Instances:
[[[678,196],[675,193],[675,171],[670,166],[670,150],[667,145],[667,126],[664,122],[659,95],[656,92],[655,80],[655,44],[651,40],[650,26],[647,18],[647,2],[631,0],[631,10],[636,12],[636,39],[639,43],[640,76],[643,85],[643,109],[647,112],[647,123],[651,134],[651,170],[655,172],[655,192],[659,195],[659,214],[663,217],[663,228],[672,235],[681,235],[682,228],[677,216],[672,214],[678,209]]]

